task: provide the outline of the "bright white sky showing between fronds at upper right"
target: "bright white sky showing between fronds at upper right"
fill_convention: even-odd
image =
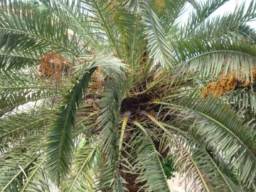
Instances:
[[[178,1],[178,0],[177,0]],[[198,1],[206,1],[206,0],[198,0]],[[252,0],[230,0],[228,2],[226,2],[223,6],[220,6],[219,9],[217,9],[212,16],[217,16],[217,15],[222,15],[225,13],[230,13],[235,11],[235,7],[241,5],[243,2],[245,2],[245,6],[249,6],[250,2]],[[181,18],[181,20],[186,21],[186,17],[188,17],[188,13],[189,11],[191,11],[191,6],[186,8],[186,14],[183,15],[183,18]],[[252,28],[256,29],[256,19],[255,21],[251,21],[250,23],[248,23]]]

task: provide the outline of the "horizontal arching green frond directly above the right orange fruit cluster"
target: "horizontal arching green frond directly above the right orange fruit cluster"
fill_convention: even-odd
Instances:
[[[183,72],[198,72],[204,78],[216,78],[220,73],[226,75],[235,71],[238,77],[252,79],[256,57],[255,47],[249,41],[193,38],[176,45],[180,62],[186,63],[181,66]]]

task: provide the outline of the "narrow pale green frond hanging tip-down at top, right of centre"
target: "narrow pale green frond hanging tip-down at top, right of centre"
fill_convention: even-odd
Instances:
[[[173,67],[174,55],[168,45],[168,41],[166,41],[164,29],[159,18],[147,3],[143,6],[142,22],[144,23],[144,33],[148,43],[149,55],[154,58],[156,63]]]

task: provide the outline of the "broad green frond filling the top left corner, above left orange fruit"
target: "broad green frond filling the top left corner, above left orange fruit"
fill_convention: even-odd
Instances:
[[[26,50],[33,53],[53,49],[80,55],[79,40],[51,14],[32,9],[22,1],[0,2],[0,47],[4,53]],[[14,41],[15,40],[15,41]]]

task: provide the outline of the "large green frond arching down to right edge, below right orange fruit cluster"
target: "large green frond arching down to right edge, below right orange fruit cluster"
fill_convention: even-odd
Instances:
[[[245,127],[230,107],[220,100],[207,99],[184,106],[188,107],[184,112],[189,112],[189,117],[196,119],[196,132],[210,146],[227,159],[235,156],[234,163],[240,171],[242,183],[250,188],[256,174],[254,130]]]

